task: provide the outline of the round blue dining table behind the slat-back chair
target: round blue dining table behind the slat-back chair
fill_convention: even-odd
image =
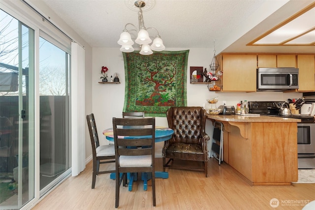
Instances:
[[[164,142],[164,141],[169,140],[174,133],[173,129],[168,128],[168,127],[163,127],[163,126],[156,126],[155,130],[156,130],[155,143]],[[107,128],[107,129],[103,130],[103,135],[106,137],[106,139],[108,141],[114,142],[114,130],[113,130],[113,128]],[[124,136],[124,138],[132,140],[132,139],[146,138],[146,136]],[[156,176],[156,178],[167,179],[168,178],[168,172],[156,171],[155,176]],[[137,176],[135,173],[130,173],[130,174],[128,174],[127,178],[129,180],[128,190],[131,191],[133,180],[136,180]],[[115,173],[110,175],[110,179],[113,179],[113,180],[116,179]],[[143,180],[144,190],[147,190],[147,187],[148,187],[147,181],[148,181],[148,179],[150,179],[150,176],[147,173],[142,173],[141,179]]]

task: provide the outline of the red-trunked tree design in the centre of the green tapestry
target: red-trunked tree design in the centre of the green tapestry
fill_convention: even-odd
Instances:
[[[136,105],[175,106],[176,61],[136,62]]]

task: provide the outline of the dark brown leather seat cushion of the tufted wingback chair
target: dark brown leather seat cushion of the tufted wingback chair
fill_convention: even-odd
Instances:
[[[181,142],[176,142],[171,144],[166,152],[179,152],[179,153],[193,153],[193,154],[204,154],[202,147],[198,144],[186,144]]]

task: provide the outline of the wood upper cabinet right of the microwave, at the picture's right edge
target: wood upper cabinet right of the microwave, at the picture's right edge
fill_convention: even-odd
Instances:
[[[315,55],[298,55],[299,68],[298,91],[315,91]]]

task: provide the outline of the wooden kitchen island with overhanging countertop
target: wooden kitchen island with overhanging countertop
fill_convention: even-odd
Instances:
[[[223,160],[252,185],[290,185],[298,180],[297,122],[239,115],[208,115],[220,121]]]

